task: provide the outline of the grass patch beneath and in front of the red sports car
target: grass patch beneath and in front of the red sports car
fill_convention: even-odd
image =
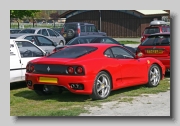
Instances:
[[[13,88],[10,90],[11,116],[78,116],[88,113],[87,107],[98,106],[101,103],[118,101],[131,102],[133,97],[141,94],[157,94],[166,92],[170,88],[167,79],[160,82],[155,88],[135,86],[112,91],[104,100],[92,101],[87,95],[78,95],[71,92],[54,94],[51,96],[38,96],[34,91],[26,88]]]

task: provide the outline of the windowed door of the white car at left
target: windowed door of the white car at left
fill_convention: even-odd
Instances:
[[[16,41],[21,57],[21,75],[25,80],[26,65],[29,61],[44,56],[44,52],[29,41]]]

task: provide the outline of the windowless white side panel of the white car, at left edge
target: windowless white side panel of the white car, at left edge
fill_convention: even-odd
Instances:
[[[10,83],[22,79],[21,59],[14,40],[10,40]]]

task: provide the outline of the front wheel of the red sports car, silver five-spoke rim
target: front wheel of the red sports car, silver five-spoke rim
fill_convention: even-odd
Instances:
[[[156,87],[159,85],[159,82],[161,80],[161,71],[159,66],[156,64],[153,64],[148,72],[148,87]]]

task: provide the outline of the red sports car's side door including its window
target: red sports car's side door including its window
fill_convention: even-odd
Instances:
[[[147,62],[135,59],[133,54],[123,47],[112,47],[111,51],[119,64],[119,84],[130,86],[146,82]]]

